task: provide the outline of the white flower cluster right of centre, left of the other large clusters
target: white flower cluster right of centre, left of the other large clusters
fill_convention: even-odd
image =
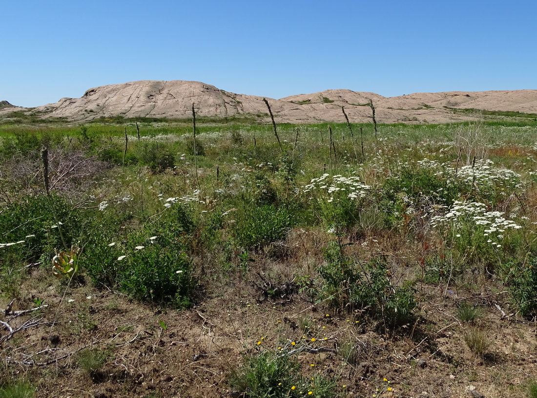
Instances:
[[[334,200],[334,194],[337,192],[346,193],[349,199],[354,200],[365,197],[369,189],[371,187],[365,185],[356,176],[344,177],[339,174],[334,176],[323,174],[319,178],[311,180],[311,183],[304,187],[304,193],[321,190],[330,195],[328,202],[332,202]]]

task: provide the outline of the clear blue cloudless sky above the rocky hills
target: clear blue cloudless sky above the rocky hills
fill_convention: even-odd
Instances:
[[[282,98],[537,89],[537,1],[3,1],[0,100],[133,80]]]

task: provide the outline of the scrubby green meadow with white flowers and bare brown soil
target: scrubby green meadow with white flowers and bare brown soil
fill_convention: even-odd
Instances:
[[[377,128],[0,125],[0,397],[537,396],[537,122]]]

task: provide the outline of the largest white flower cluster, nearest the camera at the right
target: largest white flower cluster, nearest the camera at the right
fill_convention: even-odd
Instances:
[[[455,201],[445,215],[431,218],[433,228],[451,225],[456,229],[468,222],[475,226],[474,229],[483,226],[483,236],[495,235],[492,237],[493,239],[503,239],[505,230],[522,228],[514,221],[506,219],[503,212],[487,211],[487,205],[478,202]],[[460,234],[457,234],[456,237],[460,237]],[[488,239],[488,243],[496,247],[502,246],[492,239]]]

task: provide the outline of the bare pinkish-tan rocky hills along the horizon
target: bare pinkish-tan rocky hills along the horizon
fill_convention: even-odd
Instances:
[[[0,102],[0,116],[21,110],[40,117],[63,117],[84,122],[99,117],[165,117],[182,119],[192,114],[192,104],[200,116],[251,115],[268,121],[264,97],[235,94],[201,82],[186,80],[140,80],[89,89],[81,98],[62,98],[55,104],[37,108],[13,107]],[[415,93],[400,97],[351,90],[267,98],[277,122],[345,122],[342,107],[351,122],[370,122],[372,102],[379,123],[447,123],[481,117],[537,116],[537,90]],[[518,114],[517,114],[518,113]],[[534,115],[535,114],[535,115]]]

